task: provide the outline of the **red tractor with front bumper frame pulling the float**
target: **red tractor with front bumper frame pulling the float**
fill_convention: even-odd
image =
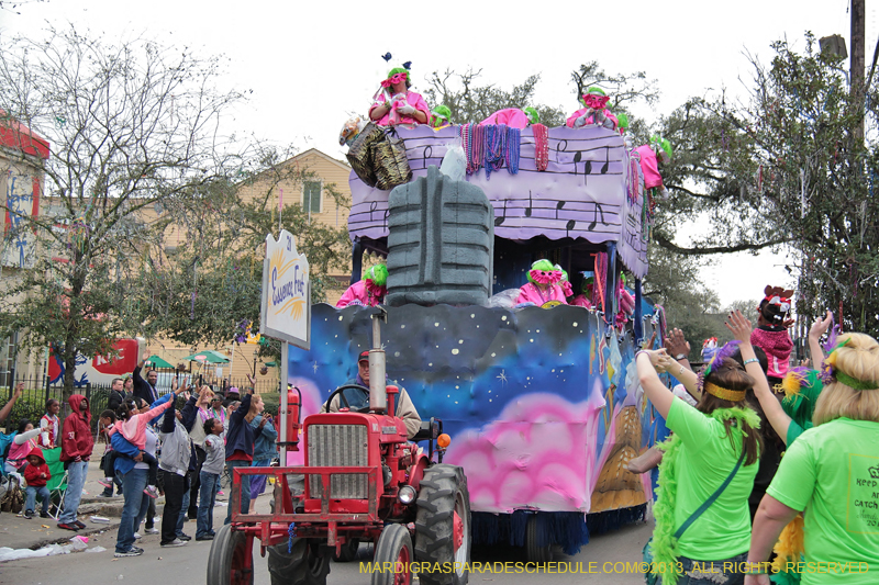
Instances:
[[[413,438],[429,441],[425,454],[407,440],[405,425],[394,416],[398,389],[376,387],[385,381],[378,320],[369,352],[369,407],[363,412],[343,407],[338,413],[307,417],[304,466],[235,468],[232,524],[216,532],[211,545],[208,585],[254,583],[254,538],[260,541],[262,555],[268,553],[272,585],[324,584],[333,554],[351,556],[359,542],[368,541],[375,543],[374,562],[393,566],[393,571],[374,572],[374,585],[411,583],[412,563],[433,567],[420,573],[422,585],[467,583],[467,477],[461,468],[442,463],[448,436],[442,435],[441,420],[423,421]],[[348,387],[331,394],[327,409],[336,396],[347,405],[344,391]],[[293,450],[299,450],[299,404],[291,391],[282,412],[287,445]],[[276,479],[272,513],[241,514],[241,482],[257,474]]]

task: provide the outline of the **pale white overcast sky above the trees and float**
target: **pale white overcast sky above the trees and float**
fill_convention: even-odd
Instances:
[[[878,4],[867,2],[868,63]],[[750,80],[746,54],[767,60],[772,41],[787,37],[802,47],[805,31],[816,37],[849,34],[848,0],[621,0],[608,9],[593,5],[599,10],[569,1],[501,5],[48,0],[19,7],[21,14],[0,10],[0,35],[44,38],[48,23],[70,22],[108,40],[143,36],[205,56],[222,54],[229,60],[221,88],[248,95],[235,112],[236,130],[344,159],[338,131],[352,114],[366,113],[390,68],[381,59],[386,53],[393,56],[391,66],[412,61],[415,91],[426,89],[432,71],[446,69],[481,69],[485,82],[507,89],[539,74],[535,100],[570,112],[579,108],[570,72],[580,64],[597,60],[609,74],[645,71],[661,93],[653,110],[635,111],[649,121],[692,95],[722,88],[744,93]],[[757,299],[769,283],[794,284],[785,270],[789,262],[769,252],[743,254],[712,259],[702,274],[728,305]]]

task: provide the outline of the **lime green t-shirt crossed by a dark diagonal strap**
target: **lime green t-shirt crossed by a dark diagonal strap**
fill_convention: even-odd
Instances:
[[[711,497],[742,454],[742,431],[733,428],[733,445],[723,423],[683,401],[671,401],[666,426],[682,440],[678,454],[675,529]],[[757,463],[736,472],[726,490],[678,541],[678,553],[697,561],[722,561],[750,548],[748,496]]]

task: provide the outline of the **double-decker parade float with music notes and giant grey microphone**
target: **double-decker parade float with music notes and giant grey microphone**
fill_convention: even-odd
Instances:
[[[388,379],[450,435],[444,462],[466,473],[474,544],[546,561],[553,545],[572,553],[590,531],[642,519],[652,484],[626,463],[665,426],[633,358],[665,323],[641,294],[652,209],[638,155],[599,124],[378,128],[347,136],[352,283],[365,252],[386,259]],[[374,138],[392,147],[374,150],[383,161],[357,159]],[[441,172],[455,159],[466,172]],[[516,303],[542,259],[585,306]],[[288,359],[303,414],[356,375],[370,304],[312,307],[310,347]]]

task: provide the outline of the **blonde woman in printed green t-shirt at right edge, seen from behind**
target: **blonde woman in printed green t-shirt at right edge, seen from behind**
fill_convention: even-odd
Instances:
[[[803,585],[879,583],[879,344],[841,336],[827,356],[814,427],[788,447],[754,521],[748,563],[765,566],[781,529],[804,517]],[[767,574],[747,585],[769,585]]]

